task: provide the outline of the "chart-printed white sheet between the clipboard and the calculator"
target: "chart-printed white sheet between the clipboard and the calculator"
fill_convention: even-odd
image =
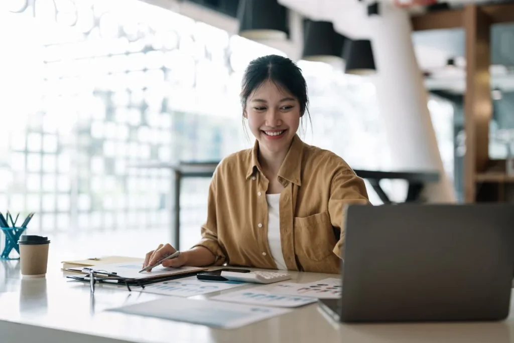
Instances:
[[[189,297],[193,295],[207,294],[231,288],[240,287],[246,283],[237,281],[203,281],[196,276],[183,279],[162,281],[144,286],[144,289],[134,289],[144,293],[172,295],[177,297]]]

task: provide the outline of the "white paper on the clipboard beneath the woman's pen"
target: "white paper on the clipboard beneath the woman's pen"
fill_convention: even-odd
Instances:
[[[99,264],[88,268],[94,268],[94,270],[102,270],[109,273],[117,273],[118,276],[130,279],[146,278],[149,276],[159,275],[173,275],[179,272],[194,272],[196,270],[202,270],[203,268],[187,267],[182,266],[179,268],[163,267],[162,265],[152,269],[151,272],[139,271],[142,269],[141,263],[113,263],[113,264]],[[82,270],[82,268],[71,268],[72,270]]]

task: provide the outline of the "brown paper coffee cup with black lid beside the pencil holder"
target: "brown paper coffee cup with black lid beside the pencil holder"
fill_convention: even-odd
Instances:
[[[44,277],[48,263],[48,237],[22,235],[18,241],[22,276]]]

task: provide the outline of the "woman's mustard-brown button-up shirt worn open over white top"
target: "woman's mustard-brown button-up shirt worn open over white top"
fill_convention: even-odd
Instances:
[[[276,269],[267,239],[269,180],[258,142],[232,154],[214,172],[200,242],[216,265]],[[347,204],[369,204],[364,181],[342,158],[295,136],[278,173],[280,240],[288,270],[340,273]]]

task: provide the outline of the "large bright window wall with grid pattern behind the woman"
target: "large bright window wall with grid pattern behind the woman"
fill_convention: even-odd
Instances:
[[[169,227],[170,170],[139,166],[219,160],[249,147],[242,72],[257,56],[283,53],[136,0],[32,4],[0,5],[9,32],[1,38],[9,130],[0,135],[0,209],[36,212],[32,232]],[[354,168],[387,168],[373,85],[299,65],[313,124],[304,139]],[[183,247],[199,237],[209,181],[182,186]]]

